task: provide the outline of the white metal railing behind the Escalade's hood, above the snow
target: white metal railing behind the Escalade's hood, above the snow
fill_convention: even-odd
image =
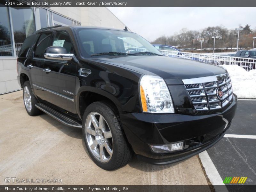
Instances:
[[[165,51],[165,50],[159,50],[159,51],[162,54],[169,57],[196,60],[196,61],[201,61],[204,63],[210,63],[214,65],[238,65],[246,70],[255,69],[256,67],[256,59],[252,59],[252,58],[230,57],[230,56],[222,56],[222,55],[209,55],[209,54]]]

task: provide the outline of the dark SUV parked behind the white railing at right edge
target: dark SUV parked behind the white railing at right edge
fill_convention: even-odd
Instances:
[[[246,70],[256,69],[256,50],[240,50],[234,57],[236,57],[234,60],[237,61],[238,66],[242,66]]]

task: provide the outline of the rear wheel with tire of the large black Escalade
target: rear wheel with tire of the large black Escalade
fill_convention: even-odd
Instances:
[[[36,108],[35,106],[36,103],[38,103],[38,101],[36,100],[36,97],[31,89],[30,82],[26,81],[23,84],[22,89],[23,89],[23,102],[28,115],[30,116],[40,115],[42,111]]]

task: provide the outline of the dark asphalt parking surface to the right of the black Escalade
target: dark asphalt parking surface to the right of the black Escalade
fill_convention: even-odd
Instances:
[[[255,123],[256,100],[238,100],[236,116],[226,134],[256,135]],[[207,153],[222,180],[248,177],[244,185],[256,185],[256,139],[224,137]]]

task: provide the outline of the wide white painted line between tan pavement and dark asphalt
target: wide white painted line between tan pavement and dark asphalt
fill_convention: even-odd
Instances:
[[[220,174],[217,171],[215,165],[212,163],[212,159],[210,158],[210,156],[208,155],[206,150],[203,151],[202,153],[199,153],[199,158],[204,166],[206,175],[210,179],[212,185],[214,185],[214,186],[225,185],[223,183],[223,180],[221,179]],[[223,190],[223,188],[222,188],[222,190]]]

